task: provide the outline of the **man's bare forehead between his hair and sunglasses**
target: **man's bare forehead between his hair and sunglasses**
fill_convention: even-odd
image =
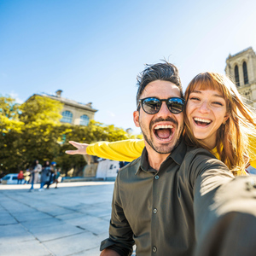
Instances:
[[[180,97],[181,91],[176,84],[165,80],[155,80],[147,84],[140,98],[157,96],[160,98]]]

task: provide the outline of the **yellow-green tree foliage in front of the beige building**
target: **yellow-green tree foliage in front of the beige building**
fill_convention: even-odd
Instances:
[[[89,125],[60,122],[63,105],[34,95],[19,105],[11,97],[0,97],[0,171],[25,170],[33,160],[54,160],[67,173],[86,164],[82,155],[65,154],[74,149],[68,141],[95,143],[131,138],[123,129],[91,120]]]

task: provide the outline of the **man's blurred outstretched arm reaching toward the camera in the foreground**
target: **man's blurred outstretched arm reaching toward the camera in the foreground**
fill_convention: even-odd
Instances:
[[[225,170],[212,160],[196,178],[196,256],[255,255],[256,177],[230,178]]]

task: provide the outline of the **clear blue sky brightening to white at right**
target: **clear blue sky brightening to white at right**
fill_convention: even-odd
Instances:
[[[92,102],[95,119],[131,128],[137,73],[174,63],[183,88],[256,50],[256,1],[0,0],[0,94]]]

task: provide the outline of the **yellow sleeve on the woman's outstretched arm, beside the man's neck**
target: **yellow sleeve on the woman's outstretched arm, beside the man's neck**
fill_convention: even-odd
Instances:
[[[86,148],[86,153],[109,160],[131,162],[141,156],[144,147],[143,140],[125,140],[113,143],[100,142],[90,144]]]

